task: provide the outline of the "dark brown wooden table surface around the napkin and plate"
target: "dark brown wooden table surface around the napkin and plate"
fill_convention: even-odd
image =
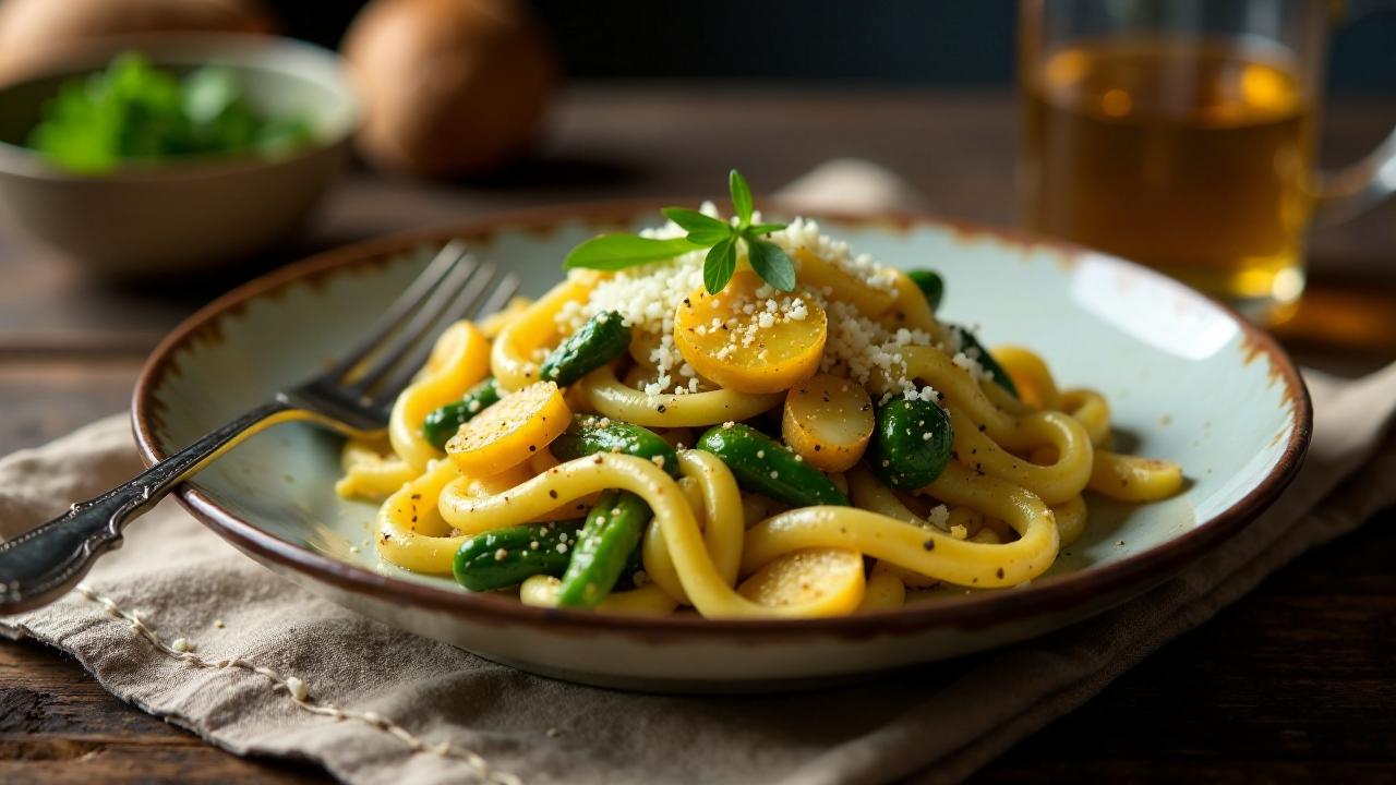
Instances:
[[[1325,158],[1353,159],[1393,123],[1396,102],[1335,102]],[[772,190],[835,156],[902,172],[941,212],[1009,222],[1013,124],[1008,95],[575,88],[561,96],[539,161],[511,179],[441,187],[353,173],[300,247],[260,267],[507,207],[713,193],[730,166]],[[1371,289],[1383,270],[1396,277],[1396,204],[1318,233],[1312,249],[1321,282],[1356,278]],[[0,233],[0,453],[123,409],[158,337],[254,272],[113,291]],[[1365,353],[1312,358],[1346,367],[1378,362]],[[1277,573],[979,779],[1396,781],[1393,556],[1396,511],[1386,511]],[[240,778],[327,779],[228,756],[112,698],[64,655],[0,644],[0,782]]]

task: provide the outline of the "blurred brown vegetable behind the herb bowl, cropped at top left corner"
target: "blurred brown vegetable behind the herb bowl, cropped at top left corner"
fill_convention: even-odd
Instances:
[[[258,0],[6,0],[0,4],[0,78],[60,61],[82,43],[148,32],[274,32]]]

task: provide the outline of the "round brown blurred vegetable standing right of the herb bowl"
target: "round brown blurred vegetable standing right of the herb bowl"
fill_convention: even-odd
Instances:
[[[342,49],[364,102],[359,152],[422,176],[510,162],[533,140],[554,78],[517,0],[374,0]]]

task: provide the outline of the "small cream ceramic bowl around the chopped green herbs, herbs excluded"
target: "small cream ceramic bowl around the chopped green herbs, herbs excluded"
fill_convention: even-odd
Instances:
[[[140,50],[174,73],[233,68],[251,101],[306,116],[315,141],[286,156],[239,155],[124,165],[73,175],[24,140],[63,81]],[[103,278],[246,258],[292,235],[349,152],[359,101],[343,61],[309,43],[257,35],[154,35],[103,41],[61,71],[0,87],[0,208],[21,229]]]

